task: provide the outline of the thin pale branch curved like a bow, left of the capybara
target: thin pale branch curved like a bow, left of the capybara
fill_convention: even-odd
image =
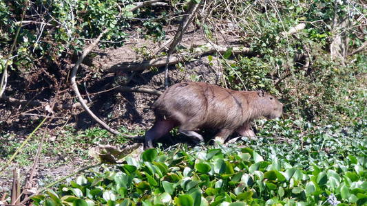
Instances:
[[[83,106],[85,111],[87,111],[87,113],[94,120],[96,120],[96,122],[98,122],[98,124],[101,124],[101,126],[103,126],[103,128],[108,130],[110,133],[112,133],[114,135],[119,135],[120,133],[118,133],[118,131],[114,130],[113,128],[110,128],[107,124],[105,124],[105,122],[103,122],[96,115],[94,115],[94,113],[90,110],[90,108],[85,103],[85,100],[83,99],[83,97],[81,96],[81,93],[78,90],[78,85],[76,84],[76,73],[78,72],[78,68],[81,65],[81,62],[83,62],[85,56],[87,56],[87,54],[90,53],[90,51],[93,49],[93,47],[95,47],[98,44],[98,42],[101,39],[101,37],[103,36],[103,34],[105,34],[107,32],[108,32],[108,29],[103,30],[103,32],[101,32],[101,34],[99,34],[99,36],[96,38],[96,41],[93,41],[87,48],[85,48],[83,50],[83,54],[78,58],[78,60],[76,61],[75,65],[72,69],[72,76],[71,76],[70,80],[72,82],[72,88],[74,89],[74,92],[75,92],[76,96],[78,97],[79,102],[81,102],[81,106]]]

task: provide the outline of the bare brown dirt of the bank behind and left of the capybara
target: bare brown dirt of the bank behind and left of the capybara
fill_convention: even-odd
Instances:
[[[193,28],[191,28],[191,30],[193,30]],[[123,62],[136,62],[149,59],[148,56],[155,56],[155,54],[165,45],[165,42],[167,42],[169,38],[173,38],[173,35],[174,32],[167,31],[165,41],[159,43],[145,39],[143,36],[136,36],[129,38],[123,47],[118,47],[116,49],[94,49],[92,52],[92,67],[83,66],[83,69],[90,69],[91,71],[98,70],[103,73],[103,71],[107,71],[114,65]],[[228,43],[238,43],[238,39],[233,37],[233,35],[220,36],[219,39],[220,41],[217,44],[224,46],[227,46]],[[186,47],[189,51],[192,47],[205,45],[206,43],[207,41],[203,38],[201,32],[195,31],[187,32],[182,38],[181,45]],[[217,61],[215,56],[211,62],[209,62],[207,56],[202,56],[196,60],[187,60],[185,63],[182,63],[180,67],[177,65],[169,66],[169,84],[185,81],[205,81],[220,84],[220,82],[222,82],[222,72],[221,62]],[[118,75],[119,77],[102,76],[96,82],[86,82],[89,88],[88,90],[90,90],[88,92],[95,93],[110,89],[119,84],[118,78],[121,78],[121,76],[123,78],[131,76],[132,73],[119,73]],[[138,86],[164,91],[164,81],[164,68],[162,67],[135,73],[132,80],[126,86]],[[113,128],[125,126],[131,130],[136,128],[146,130],[154,123],[154,115],[150,106],[156,98],[157,96],[147,93],[118,93],[112,90],[93,96],[93,111],[103,119],[108,119],[108,124]],[[2,108],[1,105],[0,108]],[[6,106],[3,106],[3,108],[6,108]],[[3,111],[3,113],[9,112],[10,111]],[[67,126],[76,128],[76,131],[96,126],[92,119],[83,112],[72,115],[71,119],[72,120],[69,122],[65,122],[64,119],[61,119],[59,124],[52,126],[49,131],[49,136],[54,139],[49,138],[45,141],[55,141],[55,143],[57,143],[57,141],[64,141],[63,138],[65,137],[59,134],[59,130],[63,130],[65,123]],[[19,119],[19,122],[21,122],[21,120],[22,119]],[[28,126],[23,126],[23,128],[19,127],[13,129],[12,133],[14,133],[16,137],[20,137],[19,142],[21,142],[33,128],[34,125],[30,126],[28,124]],[[0,144],[1,141],[7,141],[6,137],[0,137]],[[3,144],[3,146],[5,145],[6,144]],[[0,146],[0,150],[1,147],[2,146]],[[0,157],[0,165],[5,165],[5,162],[6,159]],[[61,152],[57,155],[47,154],[46,152],[46,155],[41,155],[41,159],[38,163],[34,185],[36,187],[42,187],[45,182],[56,181],[80,169],[83,165],[90,165],[91,163],[92,158],[82,159],[78,157],[78,155],[73,155],[70,152]],[[16,164],[12,165],[12,168],[16,167]],[[25,174],[29,174],[31,167],[32,165],[28,165],[21,168],[21,179],[25,179]],[[12,168],[7,168],[6,172],[0,175],[0,192],[10,190],[12,183]]]

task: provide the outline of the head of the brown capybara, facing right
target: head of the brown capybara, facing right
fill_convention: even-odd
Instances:
[[[262,110],[262,116],[268,119],[275,119],[281,117],[283,113],[283,104],[274,98],[273,95],[266,93],[262,90],[258,91],[258,106]]]

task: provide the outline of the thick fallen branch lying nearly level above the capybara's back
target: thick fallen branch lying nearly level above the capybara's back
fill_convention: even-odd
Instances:
[[[185,61],[185,57],[187,56],[197,58],[199,56],[204,56],[206,54],[212,54],[217,51],[220,54],[224,54],[224,52],[227,52],[227,49],[228,49],[227,47],[222,47],[220,45],[213,45],[213,46],[211,46],[210,44],[202,45],[194,49],[194,53],[196,52],[196,54],[185,52],[182,54],[172,55],[168,59],[168,64],[174,65],[178,62],[183,62]],[[250,51],[250,48],[247,48],[247,47],[232,47],[232,52],[233,54],[252,54]],[[107,73],[113,73],[116,71],[140,71],[140,70],[148,69],[149,67],[162,67],[166,65],[166,62],[167,62],[167,56],[163,56],[163,57],[156,58],[153,60],[144,60],[142,62],[123,63],[120,65],[115,65],[111,67],[111,69],[109,69]]]

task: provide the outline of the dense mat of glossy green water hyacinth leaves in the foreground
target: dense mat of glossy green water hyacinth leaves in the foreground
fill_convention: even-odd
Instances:
[[[365,155],[301,168],[251,148],[149,149],[140,159],[127,156],[120,165],[103,166],[32,200],[34,205],[365,205],[366,174]]]

